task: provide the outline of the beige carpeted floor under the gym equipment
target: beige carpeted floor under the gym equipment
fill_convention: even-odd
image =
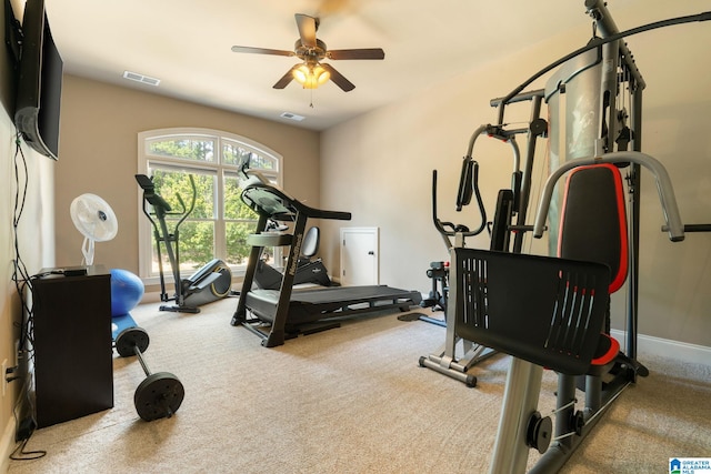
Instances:
[[[236,306],[137,307],[150,369],[184,385],[176,416],[141,421],[133,392],[143,371],[116,356],[114,407],[38,430],[27,450],[47,455],[9,472],[488,472],[508,356],[474,367],[469,389],[418,364],[444,342],[443,327],[380,314],[264,349],[230,325]],[[663,473],[670,457],[711,456],[711,366],[640,355],[650,376],[622,393],[561,472]],[[547,372],[541,412],[554,390]]]

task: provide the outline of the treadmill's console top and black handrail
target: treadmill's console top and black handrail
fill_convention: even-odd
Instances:
[[[260,191],[259,202],[253,199],[250,199],[251,190]],[[267,194],[268,202],[264,202],[263,193]],[[340,220],[340,221],[351,220],[350,212],[328,211],[323,209],[311,208],[310,205],[299,202],[297,199],[290,196],[279,188],[276,188],[264,182],[253,182],[249,184],[242,191],[241,198],[242,198],[242,201],[258,214],[266,215],[267,218],[274,218],[279,221],[293,220],[293,215],[297,212],[303,213],[307,218],[310,218],[310,219],[330,219],[330,220]],[[268,203],[278,204],[274,206],[274,209],[281,208],[284,212],[269,211],[267,209]]]

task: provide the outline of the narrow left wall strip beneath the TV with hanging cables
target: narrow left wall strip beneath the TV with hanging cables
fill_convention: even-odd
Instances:
[[[16,9],[17,10],[17,9]],[[0,24],[4,38],[4,9],[0,9]],[[28,275],[39,273],[42,268],[54,264],[54,219],[52,198],[54,191],[56,163],[22,144],[27,162],[27,174],[23,160],[16,159],[16,129],[11,117],[14,114],[14,70],[7,48],[0,48],[0,179],[2,198],[0,199],[0,362],[8,360],[14,364],[14,342],[19,337],[16,323],[22,320],[20,297],[12,281],[14,261],[14,241]],[[18,220],[17,234],[13,230],[16,218],[14,167],[18,165],[22,195],[23,182],[27,181],[24,210]],[[21,278],[21,276],[20,276]],[[23,282],[20,282],[22,285]],[[4,376],[4,374],[2,374]],[[2,382],[0,382],[2,383]],[[6,396],[0,395],[0,472],[4,472],[9,452],[13,446],[14,417],[12,409],[20,392],[22,382],[8,385]]]

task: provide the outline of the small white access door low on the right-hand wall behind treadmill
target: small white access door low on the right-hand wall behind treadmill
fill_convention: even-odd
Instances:
[[[341,228],[341,285],[377,285],[378,228]]]

